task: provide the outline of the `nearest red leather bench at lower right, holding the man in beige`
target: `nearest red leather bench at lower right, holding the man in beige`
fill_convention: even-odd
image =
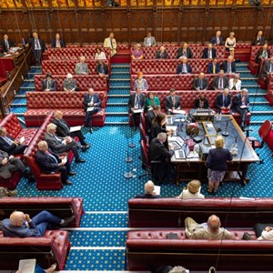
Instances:
[[[234,240],[187,239],[181,229],[129,231],[126,269],[142,271],[151,270],[151,266],[181,265],[207,272],[207,268],[217,265],[217,270],[228,272],[272,270],[273,241],[242,240],[243,233],[253,234],[253,229],[227,229],[235,234]],[[167,239],[168,233],[176,233],[178,238]]]

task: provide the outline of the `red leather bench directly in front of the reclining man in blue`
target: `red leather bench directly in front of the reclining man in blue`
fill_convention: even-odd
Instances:
[[[80,227],[84,212],[83,199],[78,197],[8,197],[0,199],[0,219],[5,219],[15,210],[21,210],[34,217],[47,210],[62,219],[75,216],[69,227]]]

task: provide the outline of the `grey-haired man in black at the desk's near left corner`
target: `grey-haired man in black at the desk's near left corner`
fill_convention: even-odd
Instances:
[[[156,185],[161,185],[170,171],[170,158],[174,150],[167,150],[164,143],[167,140],[166,133],[159,133],[149,144],[148,158],[152,167],[153,180]]]

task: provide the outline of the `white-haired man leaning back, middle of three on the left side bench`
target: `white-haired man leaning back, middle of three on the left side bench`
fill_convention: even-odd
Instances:
[[[50,149],[54,153],[63,154],[63,153],[66,153],[66,152],[72,150],[76,163],[86,162],[86,160],[79,157],[79,154],[78,154],[77,148],[76,148],[76,141],[74,139],[72,139],[70,136],[66,136],[66,137],[56,136],[56,125],[55,124],[50,123],[46,127],[44,140],[47,142],[48,147],[50,147]]]

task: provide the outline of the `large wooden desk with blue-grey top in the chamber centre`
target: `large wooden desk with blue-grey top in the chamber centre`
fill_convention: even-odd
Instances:
[[[225,122],[228,119],[229,121]],[[233,116],[222,116],[221,122],[213,122],[215,128],[217,129],[220,127],[222,131],[225,130],[226,124],[227,131],[229,132],[229,136],[223,136],[225,138],[226,147],[229,149],[234,143],[235,137],[237,137],[238,156],[234,157],[231,162],[227,162],[227,172],[223,181],[238,181],[243,185],[246,185],[249,182],[249,179],[247,178],[248,165],[258,162],[259,158],[248,143],[248,140],[246,140],[246,136],[243,134]],[[199,127],[199,135],[204,135],[202,123],[199,123]],[[184,136],[186,136],[185,131],[186,128],[183,126],[182,134],[185,134]],[[218,132],[219,136],[221,136],[221,132]],[[204,140],[206,140],[207,143],[207,137],[204,137]],[[177,159],[175,156],[171,157],[171,163],[174,164],[176,170],[177,185],[180,181],[188,182],[190,179],[199,179],[200,181],[207,182],[207,167],[205,166],[205,162],[206,161],[202,160],[200,157],[190,158],[189,156],[186,159]]]

